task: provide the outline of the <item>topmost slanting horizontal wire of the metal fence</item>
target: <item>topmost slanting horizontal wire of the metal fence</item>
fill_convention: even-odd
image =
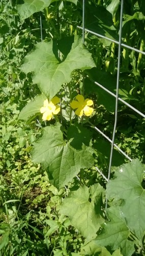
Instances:
[[[82,27],[80,27],[80,26],[77,26],[77,28],[82,30]],[[107,37],[107,36],[104,36],[104,35],[95,33],[95,32],[93,32],[93,31],[91,31],[91,30],[89,30],[89,29],[84,29],[84,31],[89,32],[89,33],[91,33],[91,34],[93,34],[93,35],[99,36],[99,37],[101,37],[101,38],[107,39],[107,40],[109,40],[109,41],[111,41],[111,42],[114,42],[115,44],[119,45],[119,41],[113,40],[113,39],[111,39],[111,38],[109,38],[109,37]],[[130,50],[133,50],[133,51],[135,51],[135,52],[138,52],[138,53],[141,53],[141,54],[145,55],[145,52],[140,51],[140,50],[138,50],[138,49],[135,49],[135,48],[133,48],[133,47],[131,47],[131,46],[128,46],[128,45],[125,45],[125,44],[121,44],[121,46],[123,46],[123,47],[125,47],[125,48],[128,48],[128,49],[130,49]]]

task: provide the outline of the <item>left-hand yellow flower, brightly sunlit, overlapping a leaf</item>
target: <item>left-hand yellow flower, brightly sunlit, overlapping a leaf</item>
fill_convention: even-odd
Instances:
[[[59,102],[60,99],[57,96],[51,99],[50,102],[48,102],[48,99],[44,100],[43,106],[40,109],[40,112],[43,114],[43,120],[49,121],[52,118],[53,114],[56,115],[60,112],[60,106],[56,105]]]

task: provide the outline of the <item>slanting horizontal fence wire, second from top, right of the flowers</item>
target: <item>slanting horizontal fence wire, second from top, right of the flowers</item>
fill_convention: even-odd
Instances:
[[[89,77],[89,76],[88,76]],[[107,93],[109,93],[110,95],[112,95],[114,98],[116,98],[117,96],[112,93],[111,91],[109,91],[108,89],[106,89],[104,86],[102,86],[102,84],[100,84],[99,82],[94,81],[94,79],[90,78],[89,79],[94,82],[95,84],[97,84],[97,86],[99,86],[100,88],[102,88],[104,91],[106,91]],[[140,116],[142,116],[143,118],[145,118],[145,115],[143,113],[141,113],[139,110],[135,109],[134,106],[130,105],[129,103],[127,103],[125,100],[123,100],[122,98],[118,98],[119,101],[121,101],[122,103],[124,103],[125,105],[127,105],[130,109],[132,109],[133,111],[135,111],[137,114],[139,114]]]

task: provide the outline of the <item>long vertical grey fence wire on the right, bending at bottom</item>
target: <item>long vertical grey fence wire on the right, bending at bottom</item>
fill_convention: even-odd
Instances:
[[[123,0],[121,0],[120,35],[119,35],[119,51],[118,51],[118,73],[117,73],[117,93],[116,93],[116,101],[115,101],[115,120],[114,120],[114,129],[113,129],[113,135],[112,135],[111,152],[110,152],[108,181],[110,179],[112,155],[113,155],[113,147],[114,147],[114,139],[115,139],[115,130],[116,130],[117,121],[118,121],[118,98],[119,98],[119,80],[120,80],[121,42],[122,42],[122,19],[123,19]],[[107,208],[107,198],[106,198],[106,208]]]

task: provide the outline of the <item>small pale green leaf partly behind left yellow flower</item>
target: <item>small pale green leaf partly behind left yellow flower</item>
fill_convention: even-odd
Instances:
[[[44,94],[38,95],[33,101],[28,102],[21,110],[18,119],[27,121],[32,116],[40,114],[40,108],[43,106],[43,102],[46,99]]]

